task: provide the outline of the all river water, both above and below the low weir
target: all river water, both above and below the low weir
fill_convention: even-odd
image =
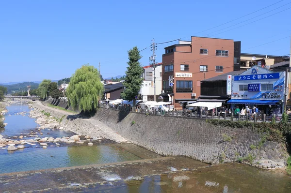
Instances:
[[[35,132],[35,120],[30,118],[28,105],[7,106],[5,115],[4,137],[27,135]],[[42,130],[44,136],[72,136],[68,131]],[[117,144],[110,140],[94,143],[92,147],[82,144],[49,143],[47,149],[39,145],[26,144],[23,150],[8,152],[0,148],[0,173],[30,171],[57,167],[80,166],[98,163],[115,163],[123,161],[159,158],[161,156],[132,144]],[[154,163],[153,163],[154,164]],[[160,175],[146,175],[139,180],[128,180],[128,177],[108,179],[102,183],[74,184],[66,188],[52,188],[48,193],[291,193],[291,178],[280,170],[262,170],[239,163],[226,163],[208,166],[190,158],[178,160],[178,165],[188,168],[181,171],[171,169]],[[206,167],[198,167],[206,165]],[[197,167],[195,167],[197,166]],[[126,167],[126,166],[123,166]],[[131,167],[131,166],[130,166]],[[156,168],[155,168],[156,167]],[[153,166],[153,171],[161,169],[162,165]],[[192,169],[191,169],[192,168]],[[150,169],[150,168],[148,168]],[[144,169],[133,170],[139,175]],[[132,172],[132,171],[131,171]],[[121,173],[122,174],[122,173]],[[125,175],[125,174],[124,174]],[[129,174],[130,171],[129,171]],[[126,180],[127,179],[127,180]],[[9,182],[10,183],[10,182]],[[5,185],[7,185],[5,183]],[[26,183],[27,185],[27,183]],[[1,184],[0,184],[1,186]],[[7,185],[7,187],[9,184]],[[3,190],[8,188],[3,185]],[[13,192],[13,191],[12,191]],[[17,192],[17,191],[16,191]],[[42,191],[35,191],[42,192]]]

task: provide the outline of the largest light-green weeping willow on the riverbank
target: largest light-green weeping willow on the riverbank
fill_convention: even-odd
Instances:
[[[94,66],[83,65],[73,74],[66,89],[68,104],[74,110],[92,112],[103,95],[103,84]]]

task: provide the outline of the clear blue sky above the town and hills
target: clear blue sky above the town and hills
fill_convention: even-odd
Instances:
[[[142,64],[148,65],[153,38],[156,43],[191,36],[226,38],[242,41],[243,53],[290,54],[291,9],[283,10],[291,8],[291,1],[278,1],[2,0],[0,82],[61,79],[83,64],[97,67],[99,61],[103,77],[123,75],[127,50],[135,45],[140,50],[148,47],[141,52]],[[281,13],[272,15],[277,12]],[[248,24],[268,15],[272,16]],[[198,33],[203,30],[207,31]],[[162,61],[163,48],[172,44],[158,46],[157,62]]]

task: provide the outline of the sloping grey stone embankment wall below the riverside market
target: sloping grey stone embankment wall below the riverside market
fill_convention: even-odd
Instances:
[[[261,168],[284,166],[288,156],[285,144],[264,142],[262,134],[249,128],[216,126],[205,119],[146,116],[105,108],[97,110],[95,119],[100,118],[132,143],[162,155],[184,155],[214,164],[251,160]]]

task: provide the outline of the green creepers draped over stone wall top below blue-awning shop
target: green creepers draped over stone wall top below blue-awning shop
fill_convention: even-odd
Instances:
[[[285,136],[291,134],[290,123],[267,123],[267,122],[251,122],[251,121],[230,121],[221,119],[208,119],[213,125],[221,125],[231,128],[248,128],[257,131],[259,134],[267,134],[268,140],[285,142]]]

